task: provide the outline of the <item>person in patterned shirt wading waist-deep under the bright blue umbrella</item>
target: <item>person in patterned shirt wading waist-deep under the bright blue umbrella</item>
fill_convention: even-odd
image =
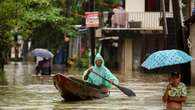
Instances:
[[[182,110],[182,103],[187,99],[186,86],[180,80],[181,75],[179,73],[171,73],[169,84],[162,97],[163,102],[166,103],[167,110]]]

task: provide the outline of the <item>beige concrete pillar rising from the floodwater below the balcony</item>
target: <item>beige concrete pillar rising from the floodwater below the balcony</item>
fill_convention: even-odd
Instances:
[[[121,54],[121,74],[132,75],[132,39],[124,39]]]

